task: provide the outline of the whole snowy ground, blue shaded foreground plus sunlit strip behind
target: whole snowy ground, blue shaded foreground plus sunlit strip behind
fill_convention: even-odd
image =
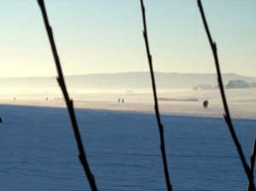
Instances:
[[[256,89],[226,90],[249,161]],[[41,98],[42,97],[42,98]],[[90,190],[65,102],[58,95],[0,97],[0,190]],[[99,190],[166,190],[151,94],[72,95],[84,149]],[[173,190],[246,190],[218,90],[159,94]],[[125,103],[118,103],[118,99]],[[207,109],[202,101],[208,100]],[[255,172],[254,172],[255,173]]]

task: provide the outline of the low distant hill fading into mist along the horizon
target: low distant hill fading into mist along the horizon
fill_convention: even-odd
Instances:
[[[215,73],[163,73],[154,72],[155,83],[158,89],[193,88],[198,84],[211,84],[217,82]],[[231,79],[245,80],[247,83],[256,82],[256,78],[241,76],[236,73],[222,74],[224,85]],[[149,72],[122,72],[122,73],[98,73],[86,75],[66,76],[67,87],[80,89],[148,89],[151,88]],[[31,77],[31,78],[0,78],[1,87],[51,87],[58,88],[55,77]]]

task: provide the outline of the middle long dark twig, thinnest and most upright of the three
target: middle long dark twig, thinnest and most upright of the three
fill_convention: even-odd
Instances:
[[[149,52],[149,45],[148,45],[148,33],[147,33],[147,26],[146,26],[146,18],[145,18],[145,8],[143,5],[143,0],[141,0],[141,5],[142,5],[142,11],[143,11],[143,25],[144,25],[144,31],[143,31],[143,36],[145,39],[145,44],[146,44],[146,49],[147,49],[147,55],[148,55],[148,64],[150,68],[150,74],[151,74],[151,80],[152,80],[152,87],[153,87],[153,92],[154,92],[154,110],[155,110],[155,115],[157,119],[157,124],[159,126],[159,131],[160,131],[160,149],[162,152],[162,159],[163,159],[163,164],[164,164],[164,171],[166,175],[166,186],[169,191],[172,190],[172,185],[169,179],[169,173],[168,173],[168,168],[167,168],[167,161],[166,161],[166,148],[165,148],[165,139],[164,139],[164,127],[160,122],[160,113],[158,109],[158,102],[157,102],[157,95],[156,95],[156,90],[155,90],[155,84],[154,84],[154,70],[153,70],[153,65],[152,65],[152,57]]]

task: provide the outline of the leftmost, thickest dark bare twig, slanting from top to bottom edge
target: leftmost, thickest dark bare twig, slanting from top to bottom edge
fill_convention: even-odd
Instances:
[[[61,90],[62,90],[62,93],[65,97],[65,101],[66,101],[66,104],[67,104],[69,117],[70,117],[71,123],[73,125],[73,134],[75,136],[75,139],[77,141],[77,145],[78,145],[78,148],[79,148],[79,159],[80,159],[81,164],[84,167],[84,172],[85,172],[85,174],[88,178],[88,181],[90,183],[91,190],[97,190],[95,179],[94,179],[93,175],[90,173],[90,168],[89,168],[89,165],[88,165],[86,157],[85,157],[84,147],[83,147],[83,143],[82,143],[81,136],[80,136],[80,133],[79,133],[79,127],[78,127],[78,124],[77,124],[77,121],[76,121],[76,118],[75,118],[75,114],[74,114],[74,110],[73,110],[73,101],[69,100],[69,97],[68,97],[68,94],[67,94],[65,81],[64,81],[62,71],[61,71],[61,63],[60,63],[60,60],[59,60],[59,57],[58,57],[58,54],[57,54],[57,50],[55,48],[55,42],[54,42],[52,30],[51,30],[51,27],[49,26],[46,10],[45,10],[45,7],[44,7],[44,0],[38,0],[38,4],[41,8],[41,11],[42,11],[42,14],[43,14],[43,17],[44,17],[44,25],[45,25],[46,31],[48,33],[49,43],[50,43],[52,53],[53,53],[54,58],[55,58],[55,64],[56,64],[57,71],[58,71],[58,74],[59,74],[59,78],[57,78],[57,81],[59,82],[59,84],[61,86]]]

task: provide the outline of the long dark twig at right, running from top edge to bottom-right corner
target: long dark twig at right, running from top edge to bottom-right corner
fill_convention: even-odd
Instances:
[[[220,90],[222,100],[223,100],[223,104],[224,104],[224,111],[225,111],[224,119],[225,119],[226,123],[229,126],[230,134],[231,134],[231,136],[232,136],[232,138],[233,138],[233,140],[236,144],[236,149],[239,153],[241,163],[244,167],[244,171],[246,171],[247,178],[250,182],[250,186],[251,186],[251,188],[253,188],[253,190],[255,190],[255,186],[254,186],[254,183],[253,183],[253,177],[251,176],[249,167],[247,165],[247,161],[244,157],[244,154],[242,153],[241,145],[240,145],[240,143],[239,143],[239,141],[236,137],[236,132],[233,128],[233,124],[232,124],[231,119],[230,119],[230,112],[229,112],[228,104],[227,104],[227,101],[226,101],[226,98],[225,98],[225,95],[224,95],[224,88],[223,88],[223,83],[222,83],[222,78],[221,78],[221,72],[220,72],[220,68],[219,68],[219,65],[218,65],[217,45],[216,45],[215,42],[212,43],[212,37],[211,37],[211,34],[210,34],[208,26],[207,26],[207,20],[205,18],[205,14],[204,14],[203,9],[202,9],[201,0],[197,0],[197,3],[198,3],[198,6],[199,6],[199,9],[200,9],[200,12],[201,12],[201,18],[203,20],[203,23],[204,23],[204,26],[205,26],[205,29],[206,29],[206,32],[207,32],[207,37],[209,39],[209,43],[212,47],[212,53],[213,53],[213,56],[214,56],[216,70],[217,70],[217,73],[218,73],[218,86],[219,86],[219,90]]]

